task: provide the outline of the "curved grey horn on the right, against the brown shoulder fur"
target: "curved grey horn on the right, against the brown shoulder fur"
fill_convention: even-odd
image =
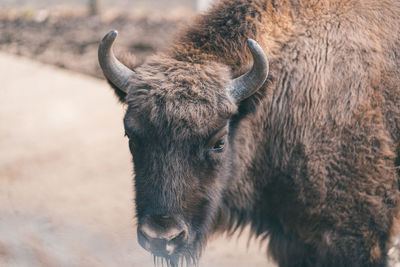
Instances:
[[[253,67],[248,73],[234,79],[228,87],[229,93],[237,103],[260,89],[267,80],[269,72],[268,58],[261,46],[252,39],[247,40],[247,45],[253,55]]]

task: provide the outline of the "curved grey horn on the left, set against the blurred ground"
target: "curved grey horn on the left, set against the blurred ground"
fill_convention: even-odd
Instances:
[[[99,46],[99,63],[104,76],[109,79],[121,91],[128,93],[128,82],[133,71],[118,61],[112,51],[112,46],[118,32],[113,30],[107,33]]]

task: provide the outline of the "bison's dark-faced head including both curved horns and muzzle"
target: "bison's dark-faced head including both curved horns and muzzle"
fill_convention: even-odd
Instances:
[[[124,126],[135,170],[138,240],[171,265],[195,261],[212,232],[229,184],[230,117],[265,82],[268,61],[248,45],[253,68],[236,79],[217,62],[178,61],[159,54],[134,71],[113,55],[116,31],[99,61],[127,103]]]

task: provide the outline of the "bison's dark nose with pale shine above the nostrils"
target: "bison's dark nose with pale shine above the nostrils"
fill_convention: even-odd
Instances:
[[[187,228],[169,216],[149,216],[138,227],[140,245],[157,256],[174,254],[187,237]]]

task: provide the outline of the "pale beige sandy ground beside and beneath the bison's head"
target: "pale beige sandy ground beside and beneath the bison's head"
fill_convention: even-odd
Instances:
[[[106,83],[3,53],[0,77],[0,266],[153,266]],[[200,266],[273,266],[246,245],[215,239]]]

